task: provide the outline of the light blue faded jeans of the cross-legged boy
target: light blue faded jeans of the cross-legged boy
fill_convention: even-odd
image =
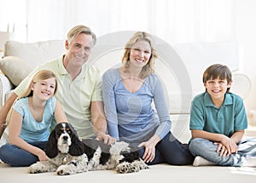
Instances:
[[[195,157],[204,157],[212,163],[234,167],[241,167],[245,157],[256,156],[256,138],[242,140],[237,146],[237,154],[220,157],[219,152],[216,152],[218,145],[214,145],[210,140],[195,138],[189,143],[189,150]]]

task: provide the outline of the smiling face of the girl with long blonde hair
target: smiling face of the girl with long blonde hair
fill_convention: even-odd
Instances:
[[[39,80],[36,83],[32,83],[31,89],[33,95],[37,96],[40,100],[48,100],[55,94],[56,81],[55,77]]]

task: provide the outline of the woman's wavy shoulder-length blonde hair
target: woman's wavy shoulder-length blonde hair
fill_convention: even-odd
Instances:
[[[122,63],[123,63],[124,71],[127,70],[127,68],[129,68],[129,64],[130,64],[131,47],[138,41],[146,41],[149,43],[149,45],[151,47],[151,55],[148,60],[148,64],[146,66],[143,66],[143,69],[139,74],[139,77],[141,79],[144,79],[144,78],[148,77],[148,75],[150,75],[151,73],[154,72],[154,61],[158,57],[157,53],[156,53],[153,38],[147,32],[137,31],[131,37],[131,39],[125,44],[125,53],[122,58]]]

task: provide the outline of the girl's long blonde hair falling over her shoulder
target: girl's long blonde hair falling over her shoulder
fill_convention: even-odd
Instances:
[[[24,91],[17,97],[16,100],[19,100],[20,98],[29,97],[29,96],[33,95],[33,91],[31,89],[32,83],[37,83],[38,81],[42,81],[42,80],[49,79],[49,78],[52,78],[52,77],[55,78],[55,92],[54,92],[54,95],[55,95],[55,93],[58,89],[58,83],[57,83],[57,79],[55,77],[55,73],[53,71],[49,71],[49,70],[41,70],[41,71],[38,71],[37,73],[35,73],[33,75],[30,82],[27,83],[26,89],[24,89]],[[14,102],[14,104],[15,104],[15,102]],[[14,106],[14,104],[13,104],[13,106]],[[6,125],[9,124],[9,119],[10,119],[11,113],[13,112],[13,106],[9,110],[9,113],[6,117]]]

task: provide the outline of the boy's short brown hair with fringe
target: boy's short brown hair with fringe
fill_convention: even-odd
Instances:
[[[203,83],[207,83],[211,79],[227,80],[228,83],[232,82],[232,73],[228,66],[221,64],[214,64],[209,66],[203,74]],[[230,88],[227,89],[230,92]]]

